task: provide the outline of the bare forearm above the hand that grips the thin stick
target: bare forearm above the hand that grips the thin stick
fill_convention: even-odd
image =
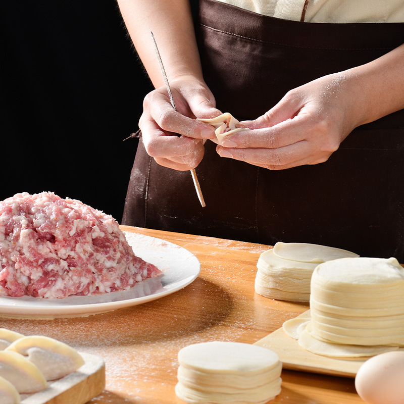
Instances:
[[[188,0],[118,0],[136,51],[156,88],[163,86],[150,31],[156,38],[169,81],[202,71]]]

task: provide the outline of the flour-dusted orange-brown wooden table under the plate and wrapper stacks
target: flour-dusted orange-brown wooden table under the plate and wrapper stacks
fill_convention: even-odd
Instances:
[[[176,293],[111,313],[0,320],[1,327],[47,335],[103,357],[107,386],[93,404],[182,404],[174,393],[179,349],[212,340],[254,343],[308,309],[255,293],[256,264],[266,245],[122,228],[185,247],[200,261],[199,277]],[[363,403],[353,379],[283,370],[282,380],[271,403]]]

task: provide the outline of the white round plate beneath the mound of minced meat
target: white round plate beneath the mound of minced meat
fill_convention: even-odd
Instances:
[[[200,263],[187,249],[142,234],[125,232],[125,236],[135,254],[156,265],[163,275],[139,282],[130,290],[92,296],[68,296],[63,299],[2,296],[0,316],[63,318],[110,312],[174,293],[199,275]]]

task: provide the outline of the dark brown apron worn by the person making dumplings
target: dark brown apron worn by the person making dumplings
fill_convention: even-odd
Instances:
[[[197,39],[217,108],[255,119],[290,89],[400,45],[404,24],[281,20],[200,0]],[[309,242],[404,262],[404,110],[352,132],[322,164],[271,171],[220,158],[213,142],[191,174],[139,143],[123,224],[274,244]]]

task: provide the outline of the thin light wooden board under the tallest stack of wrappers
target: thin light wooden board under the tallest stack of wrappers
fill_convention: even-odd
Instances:
[[[297,318],[308,317],[307,312]],[[282,328],[255,343],[276,352],[284,369],[355,378],[365,359],[335,359],[313,354],[302,348]],[[368,359],[368,358],[366,358]]]

